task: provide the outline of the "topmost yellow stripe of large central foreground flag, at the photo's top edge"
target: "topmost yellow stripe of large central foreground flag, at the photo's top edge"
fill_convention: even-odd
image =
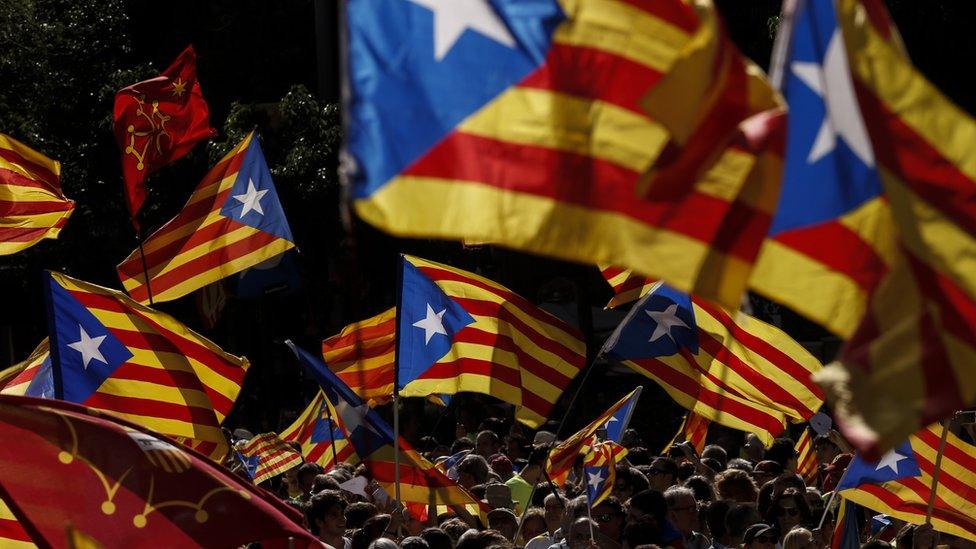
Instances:
[[[603,50],[666,71],[689,35],[664,19],[614,0],[560,0],[568,20],[553,42]]]

